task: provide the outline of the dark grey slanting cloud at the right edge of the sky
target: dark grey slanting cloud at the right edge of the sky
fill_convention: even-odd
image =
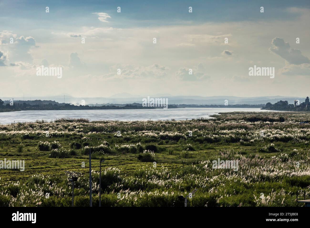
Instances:
[[[308,57],[303,56],[299,49],[290,48],[290,44],[285,42],[283,38],[275,37],[272,39],[272,47],[269,48],[273,53],[281,56],[290,64],[310,63]]]

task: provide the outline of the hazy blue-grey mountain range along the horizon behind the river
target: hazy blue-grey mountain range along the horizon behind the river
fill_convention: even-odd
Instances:
[[[168,94],[166,94],[168,95]],[[289,104],[294,104],[294,100],[299,100],[300,103],[305,100],[305,97],[289,97],[289,96],[259,96],[259,97],[237,97],[237,96],[165,96],[165,94],[157,94],[150,96],[152,98],[168,98],[168,104],[179,105],[224,105],[225,100],[228,100],[228,105],[235,104],[247,104],[247,105],[258,105],[276,103],[277,101],[288,101]],[[30,100],[30,97],[13,97],[15,101]],[[32,96],[31,100],[51,100],[59,103],[70,103],[70,104],[81,104],[82,100],[85,101],[85,105],[95,104],[142,104],[142,99],[147,96],[131,95],[129,93],[115,94],[110,97],[73,97],[69,95],[62,96]],[[3,101],[11,100],[12,97],[0,97]]]

